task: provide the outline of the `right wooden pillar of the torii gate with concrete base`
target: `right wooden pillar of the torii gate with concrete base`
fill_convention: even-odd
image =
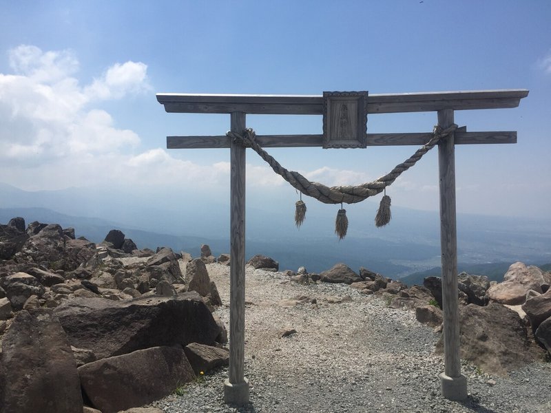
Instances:
[[[453,109],[438,111],[438,125],[453,125]],[[442,311],[444,313],[444,372],[440,374],[442,396],[449,400],[467,397],[467,379],[461,374],[459,299],[457,293],[457,230],[455,223],[455,141],[448,135],[438,144],[440,187],[440,248],[442,262]]]

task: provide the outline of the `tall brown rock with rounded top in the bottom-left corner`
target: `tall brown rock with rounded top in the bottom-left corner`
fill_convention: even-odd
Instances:
[[[3,337],[0,370],[10,372],[3,380],[3,413],[83,412],[73,353],[52,310],[14,317]]]

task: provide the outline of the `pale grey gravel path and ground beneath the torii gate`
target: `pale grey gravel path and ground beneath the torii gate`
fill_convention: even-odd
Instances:
[[[229,326],[229,268],[209,264]],[[281,300],[306,296],[282,306]],[[185,385],[152,405],[183,412],[551,412],[551,363],[534,363],[510,377],[492,377],[464,363],[469,397],[440,396],[438,335],[419,324],[413,311],[387,308],[379,297],[344,284],[289,282],[281,273],[247,267],[245,375],[251,403],[223,401],[227,368]],[[337,301],[337,302],[334,302]],[[338,302],[341,301],[341,302]],[[278,337],[280,328],[294,328]]]

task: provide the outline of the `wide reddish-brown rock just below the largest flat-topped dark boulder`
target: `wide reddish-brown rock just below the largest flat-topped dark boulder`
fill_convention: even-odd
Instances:
[[[153,347],[79,367],[83,391],[103,413],[151,403],[195,378],[185,352]]]

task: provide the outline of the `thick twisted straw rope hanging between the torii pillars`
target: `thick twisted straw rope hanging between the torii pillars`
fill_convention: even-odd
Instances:
[[[386,175],[377,178],[372,182],[366,182],[365,184],[351,186],[346,185],[344,187],[326,187],[319,182],[311,182],[300,175],[296,171],[289,171],[282,167],[280,163],[270,156],[258,143],[256,142],[256,134],[253,129],[249,128],[244,131],[242,135],[236,132],[229,131],[227,136],[233,139],[233,142],[238,142],[244,147],[251,147],[260,157],[265,160],[271,169],[278,175],[282,176],[284,180],[289,182],[295,189],[304,193],[304,195],[311,196],[324,204],[354,204],[355,202],[361,202],[366,198],[381,193],[388,185],[392,184],[396,178],[398,178],[402,172],[407,171],[410,167],[413,167],[415,163],[421,159],[425,153],[433,149],[433,147],[439,142],[441,138],[444,138],[457,129],[457,125],[453,124],[446,129],[442,129],[439,126],[435,126],[433,129],[433,137],[423,145],[410,158],[405,160],[399,165],[396,165],[392,171]]]

